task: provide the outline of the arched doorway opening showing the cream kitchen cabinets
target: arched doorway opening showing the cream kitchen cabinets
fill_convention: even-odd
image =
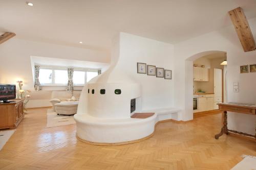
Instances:
[[[198,53],[186,60],[186,110],[190,117],[220,113],[218,103],[226,101],[224,51]]]

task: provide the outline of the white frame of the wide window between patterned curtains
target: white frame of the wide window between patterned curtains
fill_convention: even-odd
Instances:
[[[39,65],[39,64],[36,64]],[[45,66],[45,65],[39,65],[40,69],[50,69],[52,70],[52,83],[40,83],[41,86],[67,86],[68,82],[66,84],[57,84],[55,83],[55,71],[54,70],[66,70],[67,74],[68,74],[68,68],[70,67],[61,67],[61,66]],[[74,68],[74,71],[83,71],[85,72],[84,74],[84,84],[73,84],[73,86],[76,87],[80,87],[80,86],[84,86],[87,84],[87,72],[97,72],[99,69],[93,69],[93,68],[77,68],[77,67],[72,67]],[[39,71],[39,75],[40,75],[40,71]]]

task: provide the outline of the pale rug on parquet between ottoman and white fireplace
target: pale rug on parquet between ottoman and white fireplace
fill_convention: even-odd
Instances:
[[[52,109],[47,110],[47,125],[46,128],[52,128],[57,126],[75,124],[74,115],[57,115]]]

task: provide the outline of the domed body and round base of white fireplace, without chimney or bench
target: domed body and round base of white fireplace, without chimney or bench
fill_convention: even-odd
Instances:
[[[132,142],[154,132],[156,115],[131,118],[131,100],[140,85],[115,66],[83,87],[74,118],[77,137],[96,144]]]

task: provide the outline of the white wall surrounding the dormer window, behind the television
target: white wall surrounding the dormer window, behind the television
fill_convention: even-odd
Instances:
[[[15,84],[17,80],[23,80],[23,89],[33,90],[34,79],[31,56],[105,63],[110,62],[110,54],[108,52],[27,41],[14,37],[0,45],[0,83]],[[45,89],[47,89],[47,87]],[[66,87],[57,88],[57,90],[60,89],[65,90]],[[51,90],[54,89],[51,88]],[[50,99],[50,94],[42,95],[40,93],[40,95],[37,95],[36,93],[37,92],[32,91],[31,101],[28,104],[29,107],[51,106],[49,102],[46,102],[49,101],[46,99],[46,96]],[[32,100],[39,101],[33,104]]]

